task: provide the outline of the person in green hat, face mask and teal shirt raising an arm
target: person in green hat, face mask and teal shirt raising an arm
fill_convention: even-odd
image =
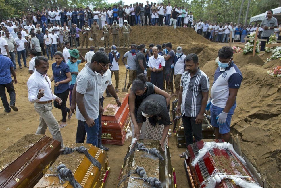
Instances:
[[[69,49],[68,52],[70,54],[70,59],[68,61],[66,61],[66,64],[69,67],[69,71],[70,71],[71,78],[72,78],[72,80],[69,82],[69,89],[70,89],[69,105],[71,106],[72,90],[73,90],[74,84],[76,82],[77,75],[79,73],[78,65],[80,63],[84,63],[85,59],[77,49],[73,49],[73,50]],[[81,57],[81,60],[78,60],[79,57]]]

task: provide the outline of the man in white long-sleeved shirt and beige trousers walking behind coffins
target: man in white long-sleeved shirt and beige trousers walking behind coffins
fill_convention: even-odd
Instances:
[[[60,105],[62,100],[52,92],[51,80],[46,75],[48,67],[49,63],[46,57],[40,56],[35,59],[36,70],[27,81],[28,100],[35,103],[35,111],[40,116],[36,134],[45,134],[48,127],[53,139],[59,141],[61,148],[64,148],[59,124],[51,112],[53,109],[52,101],[55,100]]]

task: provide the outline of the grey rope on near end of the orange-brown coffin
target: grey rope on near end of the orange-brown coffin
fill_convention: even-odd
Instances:
[[[72,171],[68,168],[66,168],[66,165],[60,164],[57,166],[58,174],[45,174],[45,177],[48,176],[57,176],[59,178],[59,183],[63,184],[65,181],[69,181],[69,183],[74,188],[83,188],[74,178]]]

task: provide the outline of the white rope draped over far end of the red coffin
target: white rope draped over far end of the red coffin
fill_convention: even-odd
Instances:
[[[218,148],[220,150],[230,150],[234,153],[234,155],[244,164],[246,165],[245,160],[238,155],[238,153],[234,150],[233,145],[230,144],[229,142],[222,142],[222,143],[217,143],[217,142],[205,142],[203,148],[201,148],[198,151],[198,155],[193,159],[191,165],[195,166],[197,162],[201,159],[203,159],[204,155],[209,152],[210,150],[213,150],[214,148]]]

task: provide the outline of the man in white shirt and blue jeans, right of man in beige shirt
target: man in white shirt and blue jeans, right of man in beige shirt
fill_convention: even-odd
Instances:
[[[26,65],[26,51],[25,47],[27,45],[27,40],[25,38],[22,38],[22,33],[18,32],[18,37],[15,38],[15,41],[17,43],[17,54],[18,54],[18,64],[20,69],[22,69],[22,64],[20,63],[20,57],[22,55],[23,61],[24,61],[24,67],[28,66]]]

